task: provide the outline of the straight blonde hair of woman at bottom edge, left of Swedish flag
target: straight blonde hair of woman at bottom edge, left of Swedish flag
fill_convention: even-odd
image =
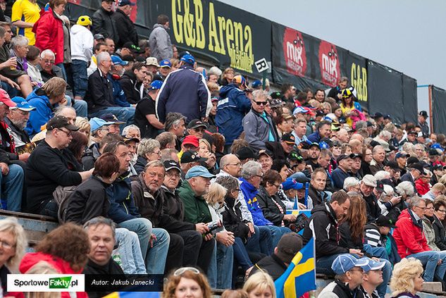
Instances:
[[[275,298],[275,286],[273,278],[262,271],[249,276],[243,285],[243,290],[248,293],[248,298],[271,297]]]

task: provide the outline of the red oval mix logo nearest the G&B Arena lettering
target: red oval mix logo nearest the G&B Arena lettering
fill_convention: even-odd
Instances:
[[[285,54],[288,73],[303,77],[306,70],[306,54],[301,32],[288,27],[285,28],[283,34],[283,54]]]

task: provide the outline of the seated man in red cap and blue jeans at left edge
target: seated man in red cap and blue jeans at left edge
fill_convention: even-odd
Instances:
[[[21,211],[23,168],[17,163],[19,156],[14,149],[14,139],[4,122],[9,108],[16,107],[4,89],[0,89],[0,194],[1,209]]]

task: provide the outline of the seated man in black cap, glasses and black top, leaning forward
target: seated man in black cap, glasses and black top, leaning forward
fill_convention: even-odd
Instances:
[[[47,137],[32,151],[26,164],[27,208],[30,213],[57,218],[58,206],[53,192],[58,186],[80,185],[93,170],[82,171],[73,154],[66,149],[72,131],[79,130],[63,116],[51,118]]]

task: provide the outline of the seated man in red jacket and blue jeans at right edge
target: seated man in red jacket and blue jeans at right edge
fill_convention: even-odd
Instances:
[[[424,209],[426,209],[426,200],[412,197],[409,209],[404,209],[399,215],[393,237],[397,242],[399,256],[419,259],[425,266],[424,281],[431,282],[434,275],[438,275],[441,279],[445,276],[446,254],[434,252],[428,247],[421,222]]]

